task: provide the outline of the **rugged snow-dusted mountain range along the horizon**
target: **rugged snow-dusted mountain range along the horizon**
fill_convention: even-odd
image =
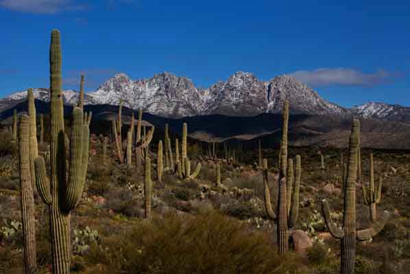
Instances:
[[[27,91],[20,91],[0,99],[0,112],[25,100],[26,95]],[[63,95],[65,104],[77,102],[77,91],[66,90]],[[34,89],[34,96],[48,102],[48,89]],[[339,117],[356,115],[410,123],[409,107],[370,102],[346,109],[324,100],[316,91],[291,76],[277,76],[265,82],[252,73],[241,71],[208,89],[195,87],[189,78],[168,72],[140,80],[132,80],[124,73],[118,73],[97,90],[86,93],[84,103],[118,105],[120,100],[131,109],[143,109],[145,112],[170,118],[197,115],[246,117],[261,113],[280,113],[283,102],[289,100],[291,114]]]

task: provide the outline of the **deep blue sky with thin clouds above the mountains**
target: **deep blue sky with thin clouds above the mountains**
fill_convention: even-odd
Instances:
[[[295,76],[345,107],[410,106],[409,14],[394,0],[0,0],[0,98],[49,87],[56,28],[64,89],[82,73],[94,91],[119,72],[209,87],[247,71]]]

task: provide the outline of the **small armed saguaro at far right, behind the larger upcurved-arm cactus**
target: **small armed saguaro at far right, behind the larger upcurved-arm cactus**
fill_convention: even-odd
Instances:
[[[378,178],[378,185],[376,189],[374,188],[374,170],[373,170],[373,155],[370,155],[370,178],[369,178],[369,189],[367,191],[367,187],[364,183],[361,184],[362,192],[363,192],[363,200],[365,205],[367,205],[370,209],[370,220],[372,222],[376,222],[377,220],[377,210],[376,204],[380,203],[381,201],[381,186],[382,186],[382,179],[381,177]]]

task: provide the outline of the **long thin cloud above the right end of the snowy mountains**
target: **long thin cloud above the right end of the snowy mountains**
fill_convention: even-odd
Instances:
[[[293,76],[305,84],[317,87],[327,85],[373,86],[388,82],[398,75],[383,69],[374,73],[364,73],[355,69],[324,68],[313,71],[295,71],[290,73],[289,76]]]

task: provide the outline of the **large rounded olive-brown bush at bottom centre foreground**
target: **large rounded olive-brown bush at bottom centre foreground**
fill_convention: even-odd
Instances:
[[[262,233],[215,212],[154,218],[102,246],[92,248],[88,260],[130,274],[302,273],[298,260],[284,261],[278,271],[276,250]]]

